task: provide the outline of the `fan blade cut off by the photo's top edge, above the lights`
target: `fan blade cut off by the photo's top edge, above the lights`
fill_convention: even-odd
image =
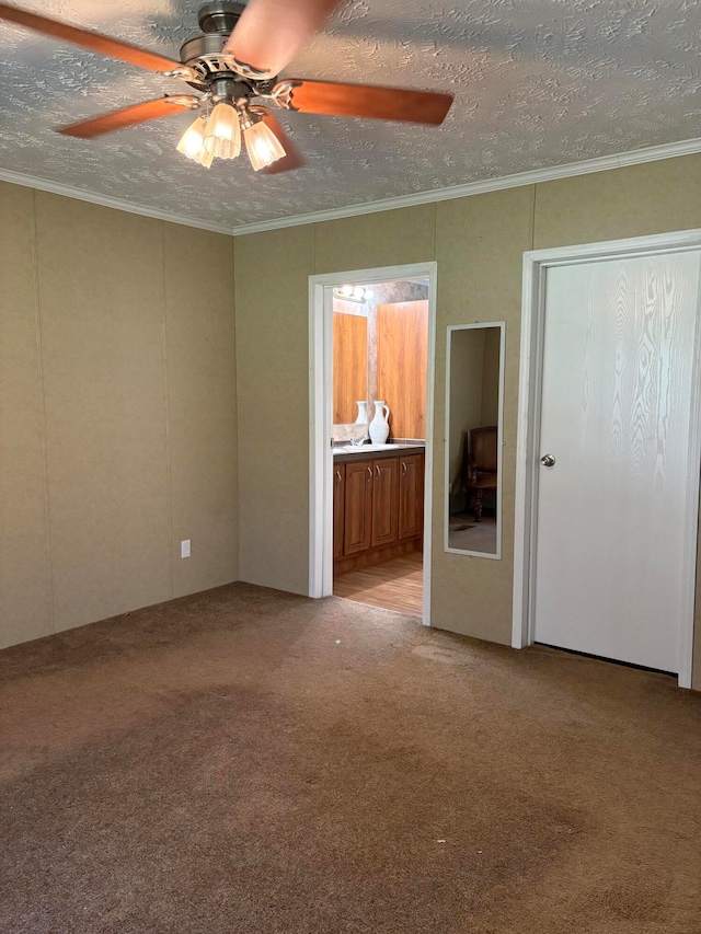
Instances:
[[[225,51],[275,78],[311,39],[340,0],[250,0]]]

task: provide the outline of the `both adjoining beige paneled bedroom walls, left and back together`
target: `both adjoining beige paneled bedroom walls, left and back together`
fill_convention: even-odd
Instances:
[[[0,209],[2,644],[238,576],[307,592],[309,276],[429,260],[433,622],[508,643],[522,253],[701,227],[701,157],[235,241],[5,184]],[[443,551],[445,330],[501,320],[494,562]]]

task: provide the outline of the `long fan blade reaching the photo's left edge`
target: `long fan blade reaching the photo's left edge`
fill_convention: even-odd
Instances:
[[[79,45],[81,48],[90,49],[90,51],[99,51],[101,55],[111,58],[119,58],[122,61],[128,61],[139,68],[146,68],[148,71],[175,72],[177,78],[197,79],[196,72],[180,61],[127,45],[119,39],[103,36],[90,30],[81,30],[78,26],[71,26],[69,23],[61,23],[59,20],[51,20],[48,16],[22,10],[20,7],[13,7],[10,3],[0,3],[0,20],[16,23],[19,26],[26,26],[37,33],[43,33],[45,36]]]

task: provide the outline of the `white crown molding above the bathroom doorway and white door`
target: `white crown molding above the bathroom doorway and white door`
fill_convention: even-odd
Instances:
[[[635,149],[621,152],[618,155],[601,155],[587,159],[584,162],[570,162],[566,165],[553,165],[549,169],[537,169],[532,172],[521,172],[518,175],[503,175],[484,182],[470,182],[467,185],[455,185],[450,188],[436,188],[433,192],[417,192],[413,195],[402,195],[397,198],[384,198],[347,208],[334,208],[325,211],[312,211],[297,217],[283,217],[276,220],[264,220],[234,227],[230,233],[242,237],[246,233],[262,233],[266,230],[279,230],[284,227],[299,227],[303,223],[321,223],[325,220],[340,220],[346,217],[358,217],[364,214],[410,208],[415,205],[427,205],[435,201],[447,201],[452,198],[468,198],[471,195],[483,195],[486,192],[499,192],[504,188],[517,188],[521,185],[535,185],[539,182],[553,182],[558,178],[570,178],[573,175],[587,175],[591,172],[606,172],[609,169],[622,169],[627,165],[639,165],[643,162],[657,162],[662,159],[674,159],[677,155],[691,155],[701,152],[701,138],[686,139],[681,142],[669,142],[664,146],[652,146],[647,149]]]

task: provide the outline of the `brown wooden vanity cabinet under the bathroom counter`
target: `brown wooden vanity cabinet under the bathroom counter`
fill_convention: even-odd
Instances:
[[[334,574],[421,550],[424,454],[334,462]]]

